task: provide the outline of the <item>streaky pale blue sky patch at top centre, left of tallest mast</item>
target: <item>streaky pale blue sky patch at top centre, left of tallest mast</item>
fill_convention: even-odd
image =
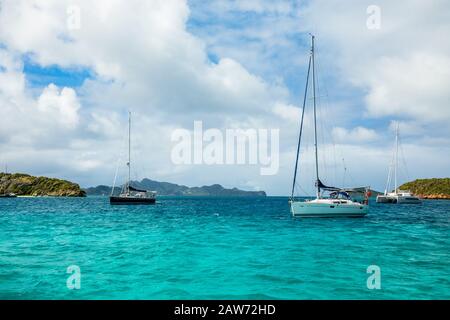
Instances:
[[[239,11],[230,8],[220,11],[214,3],[205,5],[204,1],[189,1],[191,15],[187,29],[205,39],[207,51],[212,61],[224,55],[238,59],[249,71],[267,81],[282,81],[289,87],[293,99],[303,92],[305,64],[309,48],[306,32],[297,30],[283,34],[283,43],[263,39],[261,35],[245,32],[245,29],[259,29],[268,24],[279,23],[284,19],[295,19],[300,3],[291,1],[290,12]],[[245,56],[240,52],[248,48]],[[237,50],[239,49],[239,50]],[[293,56],[293,54],[296,55]],[[303,57],[303,59],[302,59]],[[256,59],[255,59],[256,58]],[[292,61],[294,58],[295,61]]]

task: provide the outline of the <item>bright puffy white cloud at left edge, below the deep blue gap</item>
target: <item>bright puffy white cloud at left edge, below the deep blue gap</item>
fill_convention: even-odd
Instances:
[[[80,103],[72,88],[50,84],[34,98],[17,54],[0,49],[0,133],[10,144],[60,144],[79,122]],[[64,143],[63,143],[64,145]]]

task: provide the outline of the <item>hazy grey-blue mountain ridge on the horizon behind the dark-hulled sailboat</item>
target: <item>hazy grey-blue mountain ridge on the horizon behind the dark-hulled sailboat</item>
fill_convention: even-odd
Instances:
[[[141,181],[132,181],[132,186],[152,190],[158,192],[161,196],[223,196],[223,197],[265,197],[264,191],[244,191],[237,188],[226,189],[220,184],[213,184],[211,186],[202,187],[187,187],[170,182],[159,182],[150,179],[143,179]],[[109,195],[111,194],[111,187],[100,185],[84,189],[87,195]],[[119,193],[120,188],[116,187],[114,193]]]

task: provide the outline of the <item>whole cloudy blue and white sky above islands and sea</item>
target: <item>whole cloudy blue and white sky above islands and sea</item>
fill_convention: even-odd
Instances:
[[[82,187],[132,178],[291,192],[316,39],[321,180],[384,190],[450,176],[450,4],[0,0],[0,166]],[[311,97],[297,192],[314,189]],[[279,169],[178,164],[177,129],[279,130]],[[261,147],[261,145],[259,145]]]

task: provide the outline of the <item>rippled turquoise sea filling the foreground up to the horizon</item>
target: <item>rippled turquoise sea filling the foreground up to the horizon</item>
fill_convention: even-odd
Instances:
[[[283,197],[0,199],[0,298],[449,299],[450,201],[370,210],[301,220]]]

